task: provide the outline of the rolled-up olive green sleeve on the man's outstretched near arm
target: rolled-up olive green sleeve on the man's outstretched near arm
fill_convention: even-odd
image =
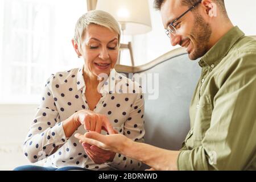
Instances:
[[[255,163],[255,57],[241,56],[229,75],[220,76],[210,127],[201,146],[180,151],[179,170],[245,170]]]

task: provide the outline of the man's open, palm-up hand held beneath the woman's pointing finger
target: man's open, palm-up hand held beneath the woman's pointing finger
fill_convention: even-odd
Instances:
[[[121,134],[101,135],[96,132],[88,132],[84,135],[75,134],[75,137],[81,140],[81,143],[87,143],[92,146],[97,146],[103,150],[112,151],[122,154],[126,147],[129,147],[133,142],[129,138]]]

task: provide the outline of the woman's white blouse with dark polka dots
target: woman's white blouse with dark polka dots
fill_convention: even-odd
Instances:
[[[124,92],[129,89],[129,93]],[[119,134],[143,142],[144,98],[141,90],[137,82],[113,69],[105,82],[102,82],[102,97],[93,111],[107,115]],[[89,108],[85,92],[83,68],[51,75],[44,87],[42,100],[25,140],[24,155],[32,163],[46,158],[46,167],[77,166],[92,170],[139,169],[141,162],[121,154],[116,154],[113,162],[92,162],[79,140],[73,137],[76,133],[86,132],[83,125],[71,138],[65,137],[63,121],[76,111]],[[102,134],[106,135],[105,131],[102,131]]]

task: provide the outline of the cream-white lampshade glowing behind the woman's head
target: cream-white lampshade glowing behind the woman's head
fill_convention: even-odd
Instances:
[[[96,10],[112,14],[121,24],[124,34],[146,34],[151,31],[148,0],[98,0]]]

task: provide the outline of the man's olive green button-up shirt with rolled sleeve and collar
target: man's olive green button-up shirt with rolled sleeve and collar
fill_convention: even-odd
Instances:
[[[256,41],[232,28],[199,61],[179,170],[256,170]]]

